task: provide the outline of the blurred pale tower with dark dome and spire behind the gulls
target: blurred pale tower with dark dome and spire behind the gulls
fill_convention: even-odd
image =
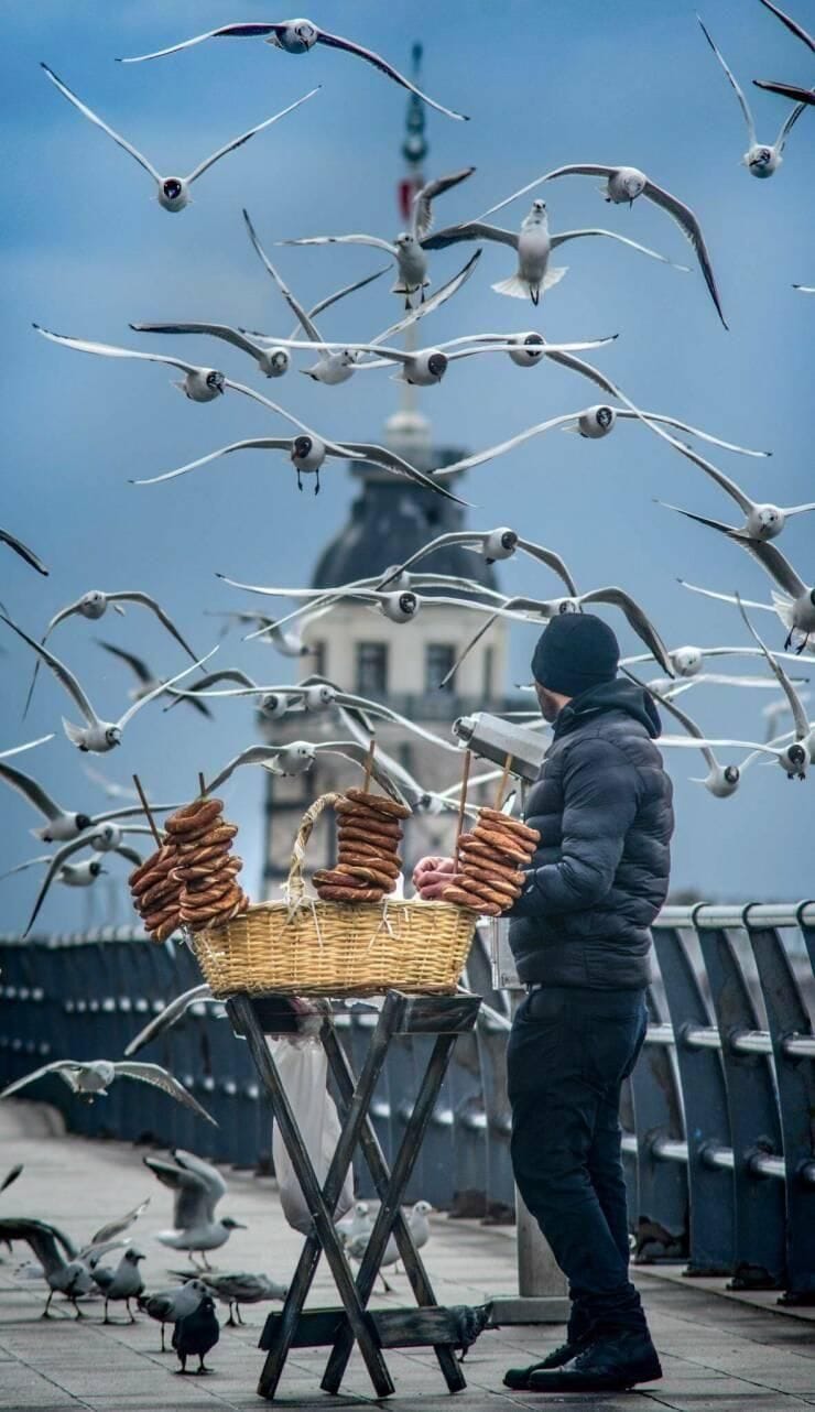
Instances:
[[[415,78],[421,64],[420,44],[414,45],[412,61]],[[427,152],[425,106],[411,95],[401,145],[405,172],[398,184],[398,206],[405,223],[414,193],[424,184]],[[405,330],[405,346],[418,347],[417,325]],[[418,407],[417,388],[407,383],[400,383],[398,407],[386,421],[384,442],[425,472],[449,466],[466,456],[466,450],[459,446],[434,446],[431,424]],[[349,469],[357,481],[357,493],[346,524],[316,561],[312,587],[332,589],[381,575],[390,565],[403,563],[429,539],[465,528],[465,510],[452,500],[388,474],[370,462],[352,462]],[[456,483],[460,480],[455,479]],[[448,545],[428,555],[420,569],[476,580],[487,589],[497,586],[493,568],[480,555],[459,545]],[[432,596],[432,590],[429,593]],[[442,596],[451,597],[448,592]],[[479,626],[480,614],[451,604],[424,606],[410,623],[398,624],[362,603],[345,600],[304,628],[304,641],[311,652],[299,664],[301,675],[319,672],[339,689],[380,700],[452,741],[451,724],[458,716],[476,710],[501,712],[520,705],[504,696],[507,628],[501,620],[477,642],[451,686],[439,689],[439,682]],[[343,729],[333,710],[285,716],[263,723],[261,730],[275,743],[347,738],[347,729]],[[388,755],[398,760],[428,789],[445,789],[460,777],[460,755],[425,743],[404,727],[379,722],[376,738]],[[355,782],[352,770],[346,761],[323,754],[305,775],[268,775],[264,853],[267,895],[277,895],[280,882],[285,880],[301,813],[318,795]],[[412,863],[422,853],[449,851],[453,826],[453,816],[449,813],[417,813],[408,820],[403,846],[408,875]],[[329,861],[329,827],[321,822],[309,843],[308,860],[314,867]]]

